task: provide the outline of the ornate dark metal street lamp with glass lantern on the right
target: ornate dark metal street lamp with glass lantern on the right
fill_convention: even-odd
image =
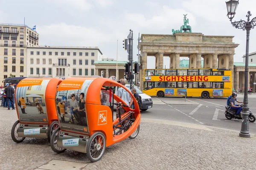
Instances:
[[[252,15],[250,11],[247,12],[247,21],[240,20],[232,22],[233,17],[236,14],[236,8],[239,4],[239,0],[230,0],[226,2],[227,5],[227,17],[230,19],[231,24],[233,27],[236,27],[238,29],[246,30],[246,53],[245,53],[245,69],[244,69],[244,106],[243,106],[243,112],[241,112],[242,115],[242,125],[241,125],[241,131],[239,133],[240,137],[250,138],[249,133],[249,120],[248,120],[248,62],[249,62],[249,37],[250,37],[250,29],[254,28],[256,26],[256,17],[254,17],[252,20],[250,20],[250,16]]]

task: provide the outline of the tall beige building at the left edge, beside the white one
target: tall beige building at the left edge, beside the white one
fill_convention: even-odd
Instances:
[[[38,46],[39,34],[24,24],[0,23],[0,81],[26,76],[26,47]]]

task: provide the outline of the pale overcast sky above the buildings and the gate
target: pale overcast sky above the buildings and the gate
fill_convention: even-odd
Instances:
[[[228,1],[228,0],[226,0]],[[39,45],[98,46],[104,58],[127,60],[122,40],[134,31],[137,60],[138,34],[172,34],[187,14],[192,32],[235,36],[234,61],[242,62],[246,31],[233,28],[227,18],[225,0],[0,0],[0,22],[36,25]],[[247,11],[256,17],[256,0],[240,0],[234,20],[246,20]],[[250,34],[250,52],[256,51],[256,28]],[[169,68],[169,58],[164,58]],[[154,68],[154,57],[148,57]]]

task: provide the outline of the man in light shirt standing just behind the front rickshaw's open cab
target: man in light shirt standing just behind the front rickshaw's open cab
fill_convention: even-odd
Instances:
[[[121,85],[125,86],[125,80],[124,79],[120,79],[119,81],[120,81]],[[128,90],[131,92],[130,89],[128,89]],[[122,87],[119,88],[117,90],[116,96],[120,97],[120,99],[122,99],[125,102],[126,105],[131,107],[133,99],[131,98],[130,94],[124,88],[122,88]],[[120,113],[120,116],[121,116],[123,113],[125,113],[125,110],[124,110],[124,108],[120,107],[118,112]],[[118,113],[116,111],[116,118],[118,117],[117,115],[118,115]]]

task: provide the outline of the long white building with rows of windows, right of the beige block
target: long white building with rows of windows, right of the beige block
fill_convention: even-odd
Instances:
[[[28,46],[27,77],[91,77],[101,59],[98,47]]]

